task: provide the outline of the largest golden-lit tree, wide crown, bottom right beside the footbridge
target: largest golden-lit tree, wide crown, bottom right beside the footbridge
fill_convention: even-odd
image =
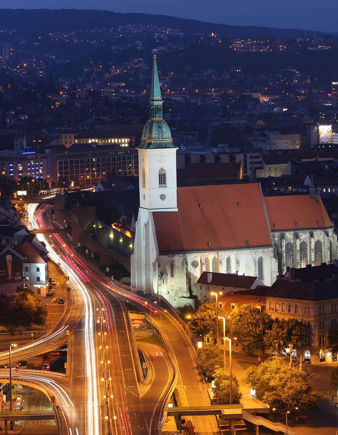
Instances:
[[[301,410],[318,408],[321,398],[313,391],[306,373],[280,359],[251,365],[244,371],[243,383],[256,389],[256,397],[270,407]]]

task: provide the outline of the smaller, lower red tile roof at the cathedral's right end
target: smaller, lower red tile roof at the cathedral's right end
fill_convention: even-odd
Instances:
[[[319,195],[315,199],[310,195],[271,196],[265,197],[264,202],[271,231],[332,227]]]

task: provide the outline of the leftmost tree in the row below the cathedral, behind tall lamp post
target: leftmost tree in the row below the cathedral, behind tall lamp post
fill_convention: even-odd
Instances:
[[[218,317],[228,318],[227,312],[222,308],[218,308]],[[218,329],[222,330],[221,324],[223,321],[217,319]],[[202,304],[198,310],[191,315],[188,321],[190,331],[199,336],[211,335],[214,339],[216,338],[217,323],[216,323],[216,304],[208,304],[207,302]]]

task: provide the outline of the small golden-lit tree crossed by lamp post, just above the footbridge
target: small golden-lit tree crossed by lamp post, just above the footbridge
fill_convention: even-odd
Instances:
[[[230,374],[225,372],[223,368],[216,367],[213,373],[214,385],[214,400],[215,405],[227,405],[230,403]],[[239,389],[238,379],[232,375],[232,403],[240,403],[242,393]]]

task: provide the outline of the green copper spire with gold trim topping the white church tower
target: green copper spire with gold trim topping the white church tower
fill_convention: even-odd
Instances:
[[[150,93],[150,118],[144,126],[141,144],[137,148],[161,149],[176,148],[173,145],[170,129],[163,119],[160,82],[158,80],[156,54],[153,56],[153,75]]]

